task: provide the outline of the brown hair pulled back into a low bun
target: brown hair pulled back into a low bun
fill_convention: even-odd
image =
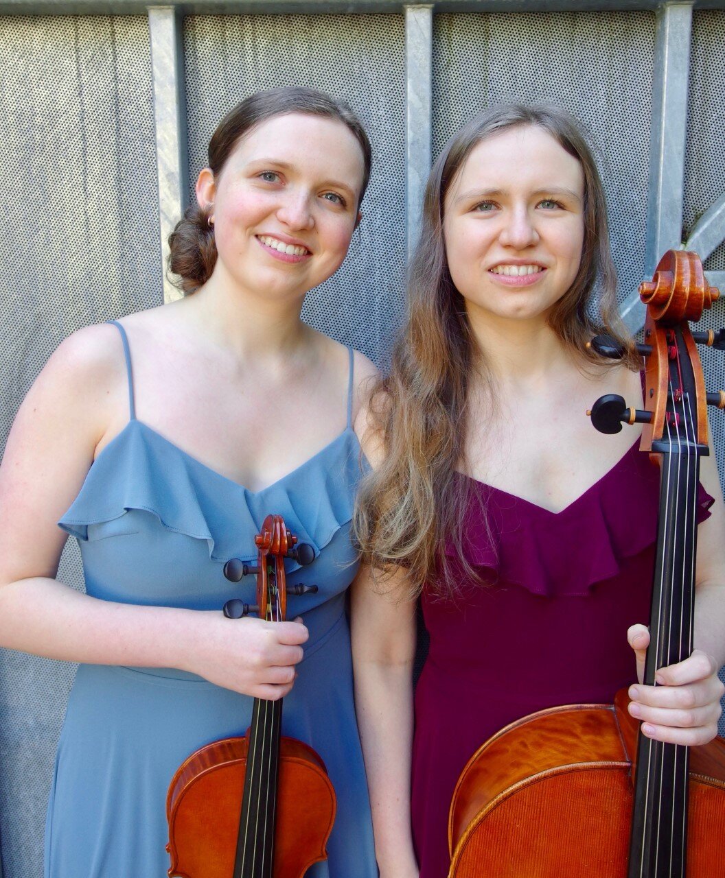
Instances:
[[[221,119],[212,139],[209,140],[207,164],[214,176],[219,176],[229,155],[245,134],[250,133],[266,119],[286,116],[290,113],[334,119],[342,122],[352,132],[363,155],[363,184],[360,189],[359,207],[370,179],[373,161],[370,140],[349,104],[315,89],[294,86],[257,91],[241,104],[236,104],[236,107]],[[169,271],[178,277],[173,283],[184,291],[185,295],[206,284],[214,271],[217,255],[214,227],[209,225],[209,213],[199,205],[187,207],[184,216],[169,236],[169,247]]]

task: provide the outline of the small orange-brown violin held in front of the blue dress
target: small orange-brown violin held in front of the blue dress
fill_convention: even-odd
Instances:
[[[232,558],[224,575],[256,573],[257,604],[234,598],[224,615],[283,622],[287,594],[317,591],[286,587],[284,559],[308,565],[315,551],[296,544],[280,515],[267,515],[255,542],[257,565]],[[255,698],[246,735],[201,747],[178,767],[166,800],[169,878],[302,878],[327,859],[335,790],[311,747],[281,737],[281,721],[281,699]]]

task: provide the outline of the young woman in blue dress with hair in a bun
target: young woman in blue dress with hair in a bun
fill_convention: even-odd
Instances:
[[[18,413],[0,473],[0,642],[81,663],[47,878],[162,878],[177,767],[243,734],[254,697],[283,695],[283,733],[320,754],[337,791],[329,860],[308,875],[377,874],[344,595],[353,423],[373,367],[300,319],[343,262],[370,156],[350,108],[320,92],[236,106],[172,235],[185,299],[72,335]],[[288,605],[304,623],[221,613],[253,594],[253,577],[222,568],[257,558],[269,514],[315,550],[305,579],[319,591]],[[55,579],[68,534],[87,594]]]

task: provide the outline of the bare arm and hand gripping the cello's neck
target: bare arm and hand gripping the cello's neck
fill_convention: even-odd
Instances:
[[[687,745],[705,744],[717,734],[725,689],[717,677],[725,663],[725,507],[714,456],[703,458],[701,480],[715,502],[698,528],[695,649],[689,659],[658,671],[658,686],[630,689],[630,713],[645,723],[644,734]],[[627,636],[642,680],[649,631],[633,625]]]

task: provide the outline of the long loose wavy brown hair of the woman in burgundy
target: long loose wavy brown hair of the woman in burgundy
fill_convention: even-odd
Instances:
[[[372,428],[384,457],[360,486],[354,529],[362,557],[373,568],[408,572],[411,596],[422,588],[453,597],[446,542],[453,545],[465,579],[481,583],[462,550],[460,522],[470,500],[468,479],[455,479],[466,464],[468,390],[475,368],[495,393],[482,351],[468,323],[465,303],[453,285],[443,236],[446,192],[472,150],[510,128],[538,126],[584,170],[584,243],[574,282],[548,322],[586,367],[602,365],[586,347],[607,332],[631,342],[616,311],[617,277],[609,247],[605,193],[597,165],[576,121],[553,105],[499,104],[482,112],[448,141],[425,189],[423,227],[410,265],[407,320],[395,343],[391,371],[371,395]],[[591,317],[598,291],[600,319]],[[627,349],[629,346],[627,345]],[[635,363],[634,354],[627,364]]]

